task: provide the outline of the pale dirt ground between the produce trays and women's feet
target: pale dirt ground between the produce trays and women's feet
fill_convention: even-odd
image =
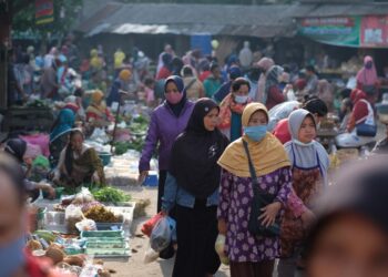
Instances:
[[[170,260],[157,259],[156,261],[145,265],[143,259],[144,253],[147,249],[149,238],[136,236],[142,234],[140,229],[143,223],[156,213],[156,188],[130,187],[125,191],[130,192],[133,198],[149,198],[151,205],[146,208],[147,216],[137,218],[133,222],[130,240],[131,248],[133,249],[132,257],[126,261],[106,261],[105,266],[118,271],[112,275],[113,277],[170,277],[174,266],[174,258]],[[221,266],[218,273],[215,275],[215,277],[228,276],[228,267],[226,266]]]

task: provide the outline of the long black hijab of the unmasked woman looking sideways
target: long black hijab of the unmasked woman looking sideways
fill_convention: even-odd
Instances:
[[[217,129],[207,131],[204,126],[204,117],[214,107],[219,110],[213,100],[198,100],[186,130],[176,138],[172,150],[170,173],[182,188],[198,199],[206,199],[219,186],[217,161],[228,144]]]

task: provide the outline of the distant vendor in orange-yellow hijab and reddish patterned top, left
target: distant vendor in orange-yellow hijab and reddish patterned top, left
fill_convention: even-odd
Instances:
[[[102,91],[94,91],[91,104],[86,109],[86,122],[92,123],[96,127],[106,126],[114,121],[103,99],[104,94]]]

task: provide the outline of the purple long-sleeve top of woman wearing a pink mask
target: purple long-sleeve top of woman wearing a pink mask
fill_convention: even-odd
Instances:
[[[164,102],[152,115],[139,171],[150,171],[150,161],[159,143],[159,170],[166,171],[170,166],[170,155],[175,138],[185,130],[193,112],[194,103],[187,101],[178,117]]]

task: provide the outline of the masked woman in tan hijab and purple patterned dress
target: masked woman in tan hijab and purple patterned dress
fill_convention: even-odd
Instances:
[[[222,167],[218,204],[218,232],[226,236],[225,254],[231,261],[232,277],[272,277],[275,259],[280,252],[278,235],[253,235],[248,222],[257,191],[274,201],[262,208],[258,219],[272,226],[287,205],[292,191],[289,160],[280,142],[266,132],[267,109],[259,103],[248,104],[243,113],[244,136],[232,143],[218,160]],[[244,144],[248,148],[253,172]]]

